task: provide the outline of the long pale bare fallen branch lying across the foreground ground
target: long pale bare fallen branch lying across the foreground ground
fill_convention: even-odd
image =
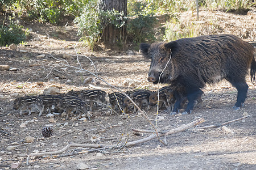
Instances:
[[[183,125],[183,126],[180,126],[178,128],[175,128],[175,129],[171,129],[171,130],[166,130],[165,133],[162,133],[162,134],[159,134],[159,137],[163,137],[163,136],[167,136],[167,135],[170,135],[170,134],[175,134],[175,133],[178,133],[180,131],[184,131],[184,130],[187,130],[189,128],[192,128],[193,126],[196,126],[198,124],[201,124],[204,122],[204,118],[200,118],[199,120],[196,120],[196,121],[193,121],[187,125]],[[151,134],[149,137],[146,137],[146,138],[143,138],[143,139],[139,139],[137,141],[133,141],[133,142],[127,142],[125,143],[125,145],[121,146],[121,148],[123,148],[124,146],[134,146],[134,145],[138,145],[138,144],[141,144],[141,143],[144,143],[144,142],[148,142],[152,139],[155,139],[155,138],[158,138],[158,136],[153,133]],[[51,152],[43,152],[43,153],[32,153],[30,155],[27,156],[27,165],[28,165],[28,161],[30,159],[31,156],[36,156],[36,157],[39,157],[39,156],[46,156],[46,155],[56,155],[56,154],[60,154],[64,151],[67,151],[68,148],[70,147],[87,147],[87,148],[105,148],[105,149],[110,149],[110,148],[117,148],[117,145],[88,145],[88,144],[80,144],[80,143],[72,143],[72,144],[69,144],[67,146],[65,146],[64,148],[62,148],[61,150],[58,150],[58,151],[51,151]],[[87,152],[87,151],[85,151]],[[80,152],[80,153],[83,153],[83,152]]]

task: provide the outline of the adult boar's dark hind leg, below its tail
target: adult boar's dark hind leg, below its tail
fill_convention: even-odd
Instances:
[[[237,82],[230,81],[230,83],[237,88],[237,103],[233,107],[233,109],[236,111],[240,109],[240,107],[242,107],[243,103],[245,102],[248,85],[246,84],[245,79]]]

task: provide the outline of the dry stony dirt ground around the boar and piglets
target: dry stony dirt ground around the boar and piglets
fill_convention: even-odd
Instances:
[[[221,33],[233,33],[230,31],[232,29],[243,30],[246,22],[250,23],[246,25],[246,30],[255,29],[255,18],[250,15],[218,11],[216,15],[211,13],[211,17],[214,16],[222,17],[220,20],[226,26],[220,27],[229,30],[225,32],[225,29],[221,29]],[[237,23],[241,24],[236,25]],[[20,116],[19,111],[13,110],[15,97],[39,95],[50,86],[59,88],[61,92],[94,88],[110,92],[109,86],[104,82],[98,83],[90,74],[60,65],[67,65],[65,61],[60,61],[63,56],[74,55],[67,62],[71,66],[79,67],[77,52],[81,55],[79,61],[82,68],[95,73],[92,63],[85,56],[89,57],[97,68],[97,74],[123,91],[135,88],[156,90],[157,87],[147,82],[150,61],[142,58],[138,52],[129,51],[130,55],[110,50],[92,53],[81,42],[77,42],[75,27],[49,27],[29,22],[23,24],[25,28],[32,28],[30,40],[19,45],[17,50],[0,48],[0,63],[18,69],[0,71],[0,169],[10,169],[12,163],[18,162],[22,163],[19,169],[76,169],[79,163],[86,164],[89,169],[256,169],[256,86],[250,82],[249,77],[245,106],[238,111],[232,109],[237,91],[225,81],[205,87],[203,106],[195,108],[192,114],[170,116],[160,111],[160,130],[174,129],[199,117],[205,119],[196,128],[169,135],[167,146],[154,139],[120,151],[103,150],[101,154],[87,152],[72,155],[88,148],[69,148],[63,154],[69,153],[71,156],[59,154],[31,158],[30,164],[26,165],[26,155],[33,152],[56,151],[70,143],[117,144],[122,133],[120,145],[123,145],[127,139],[135,141],[149,135],[135,135],[132,131],[134,128],[151,129],[144,117],[109,115],[110,109],[102,105],[94,107],[93,117],[87,121],[63,120],[60,116],[50,120],[46,113],[38,117],[37,110],[30,116]],[[227,26],[230,24],[232,27]],[[255,33],[249,32],[248,35],[250,37],[244,37],[246,41],[256,40]],[[45,56],[39,56],[41,54]],[[88,77],[94,81],[83,84]],[[43,84],[39,86],[38,82]],[[151,108],[147,114],[155,124],[156,107]],[[222,124],[246,114],[251,117],[226,125],[230,131],[222,127],[197,130],[200,126]],[[25,126],[20,126],[24,124]],[[45,126],[52,126],[54,129],[54,135],[50,138],[42,136]],[[34,142],[26,143],[27,136],[34,137]]]

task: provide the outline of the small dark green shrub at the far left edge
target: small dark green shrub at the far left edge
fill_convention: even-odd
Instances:
[[[0,28],[0,46],[25,41],[27,33],[22,28],[18,22],[10,22],[9,26]]]

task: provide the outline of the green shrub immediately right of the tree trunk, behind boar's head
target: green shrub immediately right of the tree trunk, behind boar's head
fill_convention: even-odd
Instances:
[[[155,41],[154,24],[155,6],[142,2],[134,2],[129,7],[129,20],[127,23],[127,36],[134,43],[138,44],[145,41]]]

